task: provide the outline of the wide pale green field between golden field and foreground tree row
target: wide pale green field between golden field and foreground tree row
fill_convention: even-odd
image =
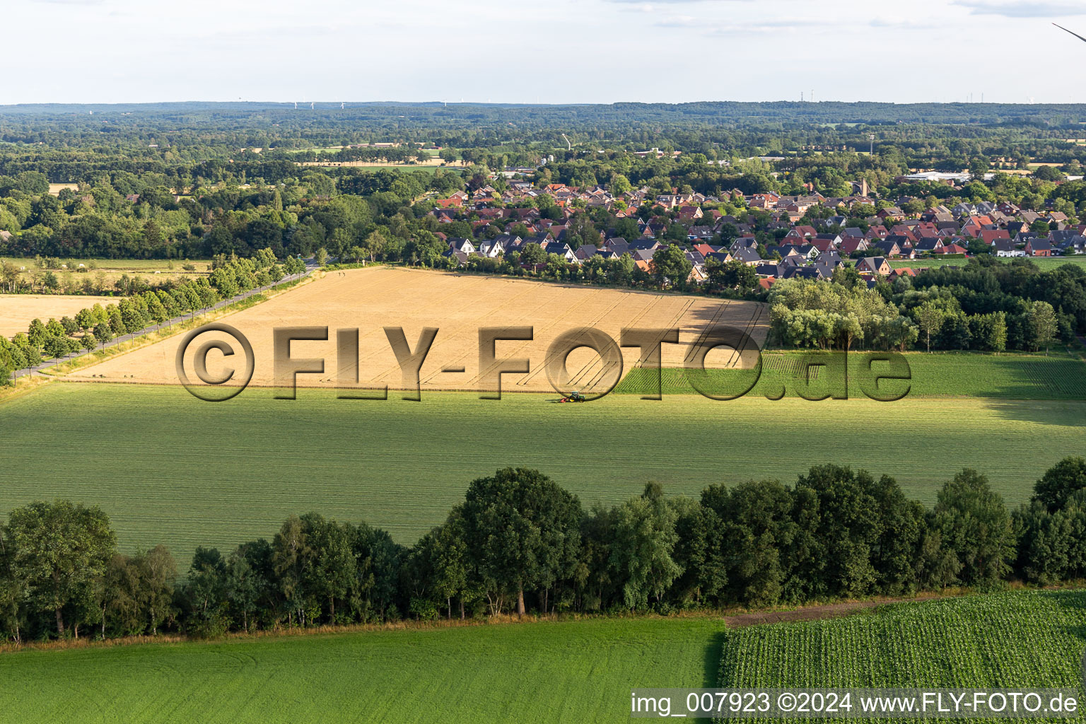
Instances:
[[[752,478],[791,483],[823,462],[894,475],[930,505],[972,467],[1016,505],[1046,469],[1082,454],[1086,432],[1078,401],[555,398],[301,390],[286,401],[250,389],[205,403],[176,386],[50,384],[0,404],[0,513],[42,498],[97,504],[124,549],[165,543],[184,567],[197,545],[232,548],[307,510],[411,543],[469,481],[506,466],[539,468],[586,506],[651,480],[689,495]]]

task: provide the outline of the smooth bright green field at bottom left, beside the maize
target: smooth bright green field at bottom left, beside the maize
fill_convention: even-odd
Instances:
[[[0,653],[0,721],[624,722],[714,686],[720,619],[479,625]]]

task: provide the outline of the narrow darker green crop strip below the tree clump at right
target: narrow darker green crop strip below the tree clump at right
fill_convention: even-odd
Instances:
[[[866,364],[866,353],[848,355],[848,394],[863,395],[860,388],[860,369]],[[788,396],[797,396],[795,380],[804,369],[805,353],[765,352],[762,369],[753,395],[780,395],[781,389]],[[992,397],[1001,399],[1086,399],[1086,363],[1077,355],[1053,351],[1048,356],[1036,354],[981,354],[910,352],[905,355],[911,380],[908,383],[886,381],[880,389],[905,391],[908,397]],[[887,370],[885,363],[874,363],[879,373]],[[812,367],[810,391],[825,394],[830,391],[824,367]],[[709,390],[715,393],[735,394],[747,389],[754,380],[750,370],[709,370]],[[634,368],[615,388],[619,394],[647,394],[655,385],[654,374]],[[683,369],[661,370],[664,394],[695,394]],[[817,396],[808,393],[809,397]]]

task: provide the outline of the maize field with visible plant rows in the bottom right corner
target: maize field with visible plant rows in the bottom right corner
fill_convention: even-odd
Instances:
[[[1082,590],[899,604],[844,619],[729,631],[719,685],[1081,691],[1084,631]]]

